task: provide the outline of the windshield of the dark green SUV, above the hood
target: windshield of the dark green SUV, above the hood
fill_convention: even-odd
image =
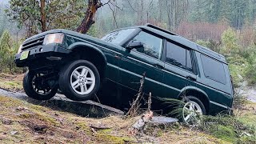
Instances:
[[[117,31],[114,31],[113,33],[107,34],[105,37],[102,38],[102,40],[113,43],[115,45],[119,45],[131,33],[133,33],[134,30],[135,29],[117,30]]]

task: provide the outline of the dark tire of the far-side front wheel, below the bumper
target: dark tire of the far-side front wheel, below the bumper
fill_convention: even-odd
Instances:
[[[37,82],[34,82],[36,78],[38,78],[38,74],[33,71],[26,72],[23,78],[23,88],[27,96],[37,100],[49,100],[53,98],[58,91],[58,87],[50,88],[50,86],[46,86],[47,84],[42,82],[42,86],[38,86]]]

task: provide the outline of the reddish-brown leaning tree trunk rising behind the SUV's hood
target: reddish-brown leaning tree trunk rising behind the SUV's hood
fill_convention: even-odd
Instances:
[[[94,16],[98,8],[102,6],[102,2],[100,0],[88,0],[87,6],[85,18],[82,19],[82,23],[77,28],[77,31],[82,34],[86,34],[90,26],[94,24]]]

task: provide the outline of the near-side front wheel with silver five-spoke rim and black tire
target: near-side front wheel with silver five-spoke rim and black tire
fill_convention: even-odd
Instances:
[[[94,98],[100,86],[96,66],[86,60],[77,60],[64,66],[59,75],[59,86],[66,98],[86,101]]]

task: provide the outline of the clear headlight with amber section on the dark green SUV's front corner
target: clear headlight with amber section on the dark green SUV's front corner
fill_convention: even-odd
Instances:
[[[62,43],[64,34],[47,34],[43,40],[43,45],[48,45],[50,43]]]

